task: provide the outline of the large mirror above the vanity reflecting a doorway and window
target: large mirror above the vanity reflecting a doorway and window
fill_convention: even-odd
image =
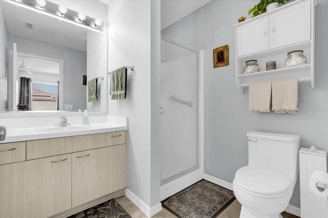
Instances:
[[[11,0],[0,4],[1,113],[107,113],[107,35]],[[96,100],[90,101],[92,79]]]

